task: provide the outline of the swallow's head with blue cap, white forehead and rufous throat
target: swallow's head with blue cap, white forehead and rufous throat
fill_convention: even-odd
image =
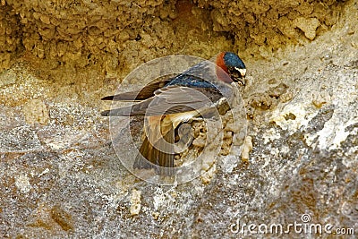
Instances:
[[[233,52],[222,52],[217,55],[217,65],[230,76],[232,81],[245,85],[246,66],[239,55]]]

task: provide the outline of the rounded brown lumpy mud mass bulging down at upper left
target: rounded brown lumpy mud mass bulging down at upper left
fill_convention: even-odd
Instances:
[[[138,1],[137,1],[138,2]],[[77,66],[95,64],[95,55],[107,67],[127,40],[138,39],[138,30],[153,19],[168,16],[173,4],[164,1],[6,1],[23,32],[21,44],[39,58],[58,59]],[[113,57],[111,57],[113,56]],[[56,65],[54,65],[55,67]]]

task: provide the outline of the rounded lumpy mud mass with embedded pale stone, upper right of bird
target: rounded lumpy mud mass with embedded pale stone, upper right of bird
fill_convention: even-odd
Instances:
[[[340,10],[338,1],[329,0],[195,2],[204,8],[211,6],[214,30],[234,32],[235,43],[242,48],[277,48],[287,42],[313,39],[336,23]]]

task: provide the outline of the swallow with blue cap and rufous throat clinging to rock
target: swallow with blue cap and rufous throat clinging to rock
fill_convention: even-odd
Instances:
[[[220,52],[169,79],[141,90],[102,100],[132,100],[129,107],[101,112],[104,116],[144,116],[144,140],[133,168],[155,168],[159,175],[175,174],[175,129],[209,108],[233,97],[231,84],[245,85],[246,66],[234,52]]]

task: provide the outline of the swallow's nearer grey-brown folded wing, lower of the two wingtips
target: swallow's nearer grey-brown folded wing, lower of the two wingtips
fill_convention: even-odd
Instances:
[[[129,107],[104,111],[102,115],[170,115],[211,107],[219,98],[222,98],[222,95],[215,88],[168,86],[155,91],[152,98]]]

